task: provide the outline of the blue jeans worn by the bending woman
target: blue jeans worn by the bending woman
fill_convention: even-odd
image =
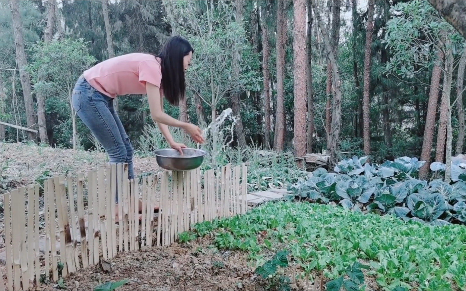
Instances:
[[[107,151],[110,163],[127,162],[128,178],[133,179],[133,146],[113,109],[113,98],[93,88],[81,75],[73,89],[72,103],[76,114]]]

